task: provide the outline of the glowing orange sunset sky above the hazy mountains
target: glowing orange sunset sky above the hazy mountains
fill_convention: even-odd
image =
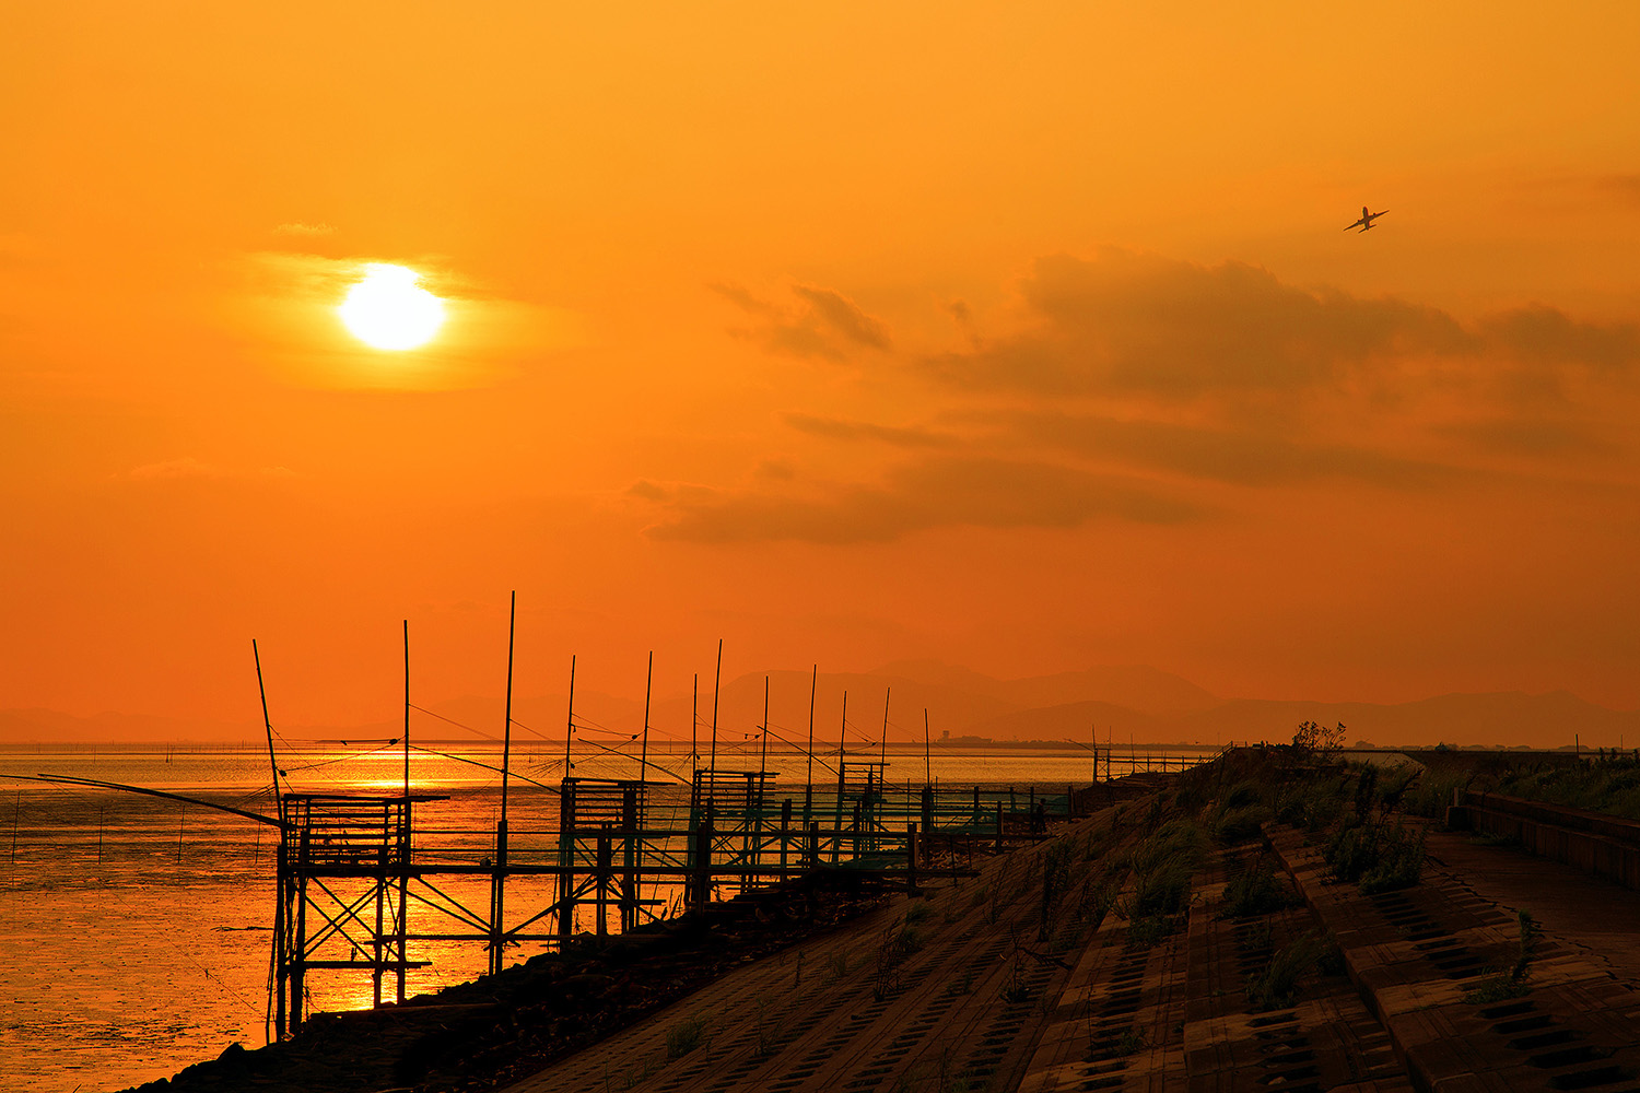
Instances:
[[[0,708],[1640,705],[1632,3],[579,7],[8,11]]]

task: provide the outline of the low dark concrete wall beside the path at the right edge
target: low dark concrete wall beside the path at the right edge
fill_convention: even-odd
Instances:
[[[1533,854],[1640,890],[1640,823],[1499,793],[1455,795],[1446,826],[1514,839]]]

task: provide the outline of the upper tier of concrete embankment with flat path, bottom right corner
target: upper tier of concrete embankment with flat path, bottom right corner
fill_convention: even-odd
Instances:
[[[1432,832],[1420,885],[1361,896],[1328,883],[1320,852],[1297,832],[1276,832],[1274,846],[1419,1090],[1640,1088],[1633,954],[1614,964],[1589,944],[1610,934],[1591,936],[1578,921],[1592,903],[1607,921],[1633,923],[1633,893]],[[1584,903],[1578,914],[1566,914],[1569,893]],[[1543,924],[1543,939],[1512,996],[1501,980],[1520,955],[1517,911]]]

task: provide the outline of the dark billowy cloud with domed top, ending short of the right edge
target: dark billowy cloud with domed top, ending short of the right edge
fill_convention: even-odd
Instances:
[[[933,357],[928,372],[979,390],[1192,400],[1299,392],[1391,354],[1474,344],[1435,308],[1296,288],[1240,262],[1105,249],[1040,259],[1022,290],[1032,329]]]

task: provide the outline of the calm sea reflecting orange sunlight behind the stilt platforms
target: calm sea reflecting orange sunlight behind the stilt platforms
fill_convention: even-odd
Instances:
[[[371,746],[287,751],[285,785],[298,793],[394,795],[402,790],[397,749]],[[417,846],[448,846],[494,831],[500,810],[499,749],[436,746],[415,751],[415,793],[448,796],[418,805]],[[851,757],[854,749],[850,749]],[[1159,754],[1159,752],[1158,752]],[[861,757],[866,757],[861,754]],[[876,752],[869,755],[876,759]],[[689,775],[682,754],[651,751],[658,770]],[[1058,793],[1087,785],[1087,751],[887,751],[891,782],[940,785],[1041,785]],[[722,747],[720,769],[756,770],[751,747]],[[835,755],[827,762],[835,764]],[[1138,759],[1145,767],[1143,754]],[[769,752],[781,787],[776,798],[802,798],[807,759]],[[512,769],[556,787],[561,747],[515,747]],[[266,751],[179,746],[175,749],[0,747],[0,775],[71,775],[167,790],[264,814],[274,813]],[[633,778],[638,764],[594,747],[576,755],[576,773]],[[1118,757],[1115,773],[1125,773]],[[815,767],[815,782],[835,778]],[[659,795],[686,800],[677,790]],[[558,796],[513,780],[508,828],[515,844],[556,829]],[[421,832],[426,831],[423,839]],[[530,834],[533,832],[533,834]],[[120,1090],[169,1077],[213,1059],[231,1042],[259,1047],[269,1031],[267,985],[274,911],[274,829],[198,805],[123,791],[0,778],[0,1077],[13,1091],[85,1093]],[[485,908],[487,888],[451,882],[456,901]],[[508,895],[522,908],[531,893]],[[543,906],[549,901],[543,893]],[[412,914],[412,923],[415,924]],[[540,947],[523,946],[517,959]],[[420,942],[412,959],[431,967],[410,973],[412,995],[469,980],[484,970],[472,942]],[[371,1005],[364,975],[312,977],[312,1008]],[[390,988],[389,988],[390,991]]]

